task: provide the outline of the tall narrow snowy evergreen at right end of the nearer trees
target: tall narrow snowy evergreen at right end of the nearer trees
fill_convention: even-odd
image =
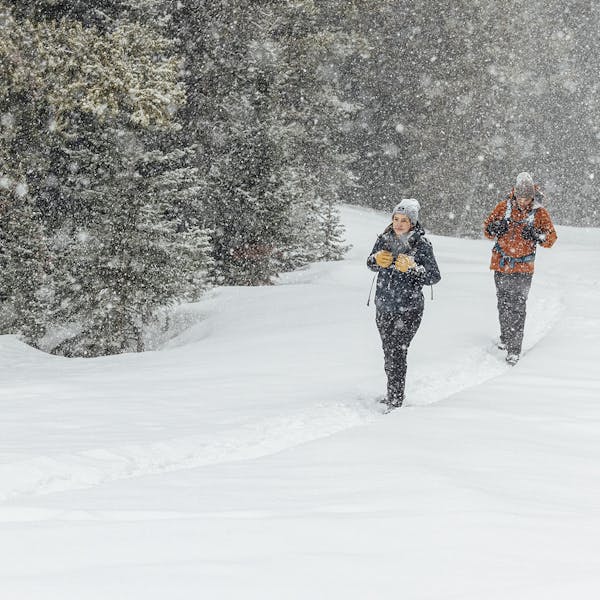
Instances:
[[[344,7],[345,14],[355,10]],[[281,190],[291,200],[284,268],[339,259],[347,250],[337,206],[353,181],[353,157],[342,127],[357,106],[344,100],[337,66],[355,48],[338,21],[336,3],[297,2],[280,6],[269,30],[280,56]]]

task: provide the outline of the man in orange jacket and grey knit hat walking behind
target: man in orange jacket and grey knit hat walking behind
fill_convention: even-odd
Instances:
[[[494,271],[500,341],[506,362],[515,365],[521,355],[527,296],[531,287],[535,251],[550,248],[556,231],[543,195],[529,173],[519,173],[515,187],[484,222],[485,236],[496,240],[490,269]]]

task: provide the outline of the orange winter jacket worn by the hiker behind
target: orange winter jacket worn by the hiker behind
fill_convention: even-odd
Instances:
[[[506,217],[508,202],[511,203],[508,231],[496,238],[490,234],[488,226]],[[506,200],[496,205],[483,224],[485,236],[497,240],[492,249],[490,269],[502,273],[533,273],[537,242],[526,240],[522,235],[529,223],[543,236],[540,246],[550,248],[556,241],[556,231],[548,211],[537,200],[530,208],[521,210],[513,190]]]

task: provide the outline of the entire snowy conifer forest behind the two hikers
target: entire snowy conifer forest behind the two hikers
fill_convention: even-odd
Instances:
[[[600,226],[599,26],[590,0],[0,0],[0,333],[143,351],[211,287],[341,259],[340,203],[478,237],[525,170]]]

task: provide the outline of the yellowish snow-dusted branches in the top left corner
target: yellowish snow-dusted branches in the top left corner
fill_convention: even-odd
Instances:
[[[185,102],[171,43],[139,23],[100,32],[78,21],[17,20],[0,3],[2,79],[13,93],[43,102],[56,121],[72,111],[121,117],[144,127],[174,126]]]

